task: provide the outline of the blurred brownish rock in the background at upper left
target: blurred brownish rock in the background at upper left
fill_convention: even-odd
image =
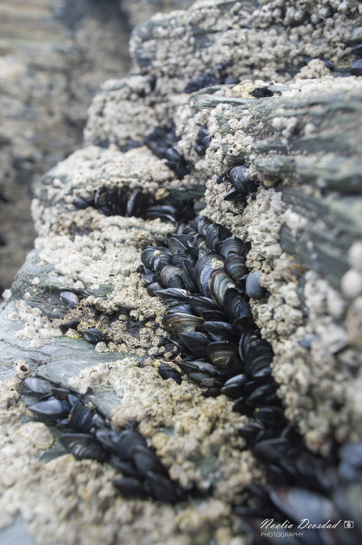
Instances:
[[[0,0],[0,300],[33,247],[33,187],[82,146],[100,84],[130,68],[130,28],[191,4]]]

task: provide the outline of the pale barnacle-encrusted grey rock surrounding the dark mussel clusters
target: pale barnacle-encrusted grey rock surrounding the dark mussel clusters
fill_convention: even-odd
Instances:
[[[70,455],[34,461],[30,455],[40,446],[29,434],[5,434],[15,455],[20,441],[31,450],[23,457],[22,482],[10,472],[0,501],[4,525],[17,509],[42,543],[241,545],[230,504],[241,501],[251,480],[265,479],[243,450],[238,428],[247,417],[232,412],[230,399],[204,397],[186,379],[177,384],[157,372],[166,362],[177,365],[180,355],[162,327],[166,305],[150,296],[137,267],[142,250],[154,244],[154,235],[173,231],[171,224],[101,215],[91,205],[101,187],[122,189],[127,197],[142,190],[158,203],[189,191],[187,198],[199,199],[206,185],[203,213],[251,243],[247,266],[260,272],[266,290],[262,299],[251,299],[251,311],[273,346],[287,420],[324,455],[333,441],[362,440],[362,82],[346,71],[349,45],[362,34],[357,2],[342,4],[311,2],[305,25],[302,3],[275,8],[272,2],[199,0],[134,30],[132,75],[105,83],[89,110],[85,148],[47,173],[33,203],[39,238],[0,314],[7,379],[0,408],[14,431],[26,412],[24,360],[31,372],[90,392],[113,427],[138,428],[172,479],[203,494],[212,486],[213,495],[177,508],[114,499],[110,468]],[[333,60],[336,72],[318,59],[303,68],[303,54]],[[205,70],[214,78],[226,70],[223,78],[242,81],[182,93]],[[129,139],[142,144],[156,126],[171,122],[179,137],[176,159],[187,165],[181,180],[148,147],[127,148]],[[195,151],[200,126],[211,138],[202,156]],[[232,189],[224,171],[241,164],[257,191],[224,200]],[[161,255],[155,251],[152,258]],[[76,293],[79,305],[69,308],[62,291]],[[59,326],[69,323],[77,329],[63,336]],[[84,339],[89,328],[106,337],[96,349]],[[49,458],[59,453],[52,449]],[[1,458],[4,473],[9,452]],[[33,498],[41,499],[46,516],[28,507],[37,505]],[[61,537],[54,528],[62,528]]]

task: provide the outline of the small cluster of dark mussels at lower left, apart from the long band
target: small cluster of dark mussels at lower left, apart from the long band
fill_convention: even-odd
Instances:
[[[108,462],[123,477],[113,481],[124,498],[152,498],[175,504],[185,499],[185,491],[170,480],[146,439],[135,429],[111,429],[95,410],[84,405],[88,395],[57,387],[48,380],[29,377],[24,383],[40,399],[28,406],[34,416],[66,429],[60,436],[62,445],[77,459],[91,458]]]

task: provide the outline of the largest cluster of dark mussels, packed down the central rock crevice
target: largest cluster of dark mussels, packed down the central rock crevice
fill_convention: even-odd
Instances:
[[[244,172],[235,167],[226,178],[238,184]],[[235,189],[242,195],[243,187]],[[362,444],[345,445],[339,454],[322,458],[309,452],[287,425],[272,377],[272,347],[250,315],[248,299],[261,299],[265,290],[259,273],[248,274],[248,243],[205,216],[188,225],[177,222],[175,228],[176,235],[142,252],[139,272],[148,293],[169,305],[162,325],[175,337],[173,342],[183,353],[191,352],[177,365],[205,389],[204,395],[224,393],[236,399],[234,411],[250,417],[239,433],[266,465],[268,484],[251,485],[235,513],[260,543],[357,545],[362,534]],[[182,380],[168,365],[159,374]],[[291,521],[285,523],[286,517]],[[357,528],[346,529],[342,518],[359,520]],[[275,535],[268,530],[272,524],[284,530],[301,524],[303,531]]]

